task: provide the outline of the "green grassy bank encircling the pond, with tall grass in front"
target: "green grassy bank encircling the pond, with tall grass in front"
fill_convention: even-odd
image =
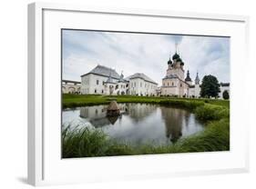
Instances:
[[[108,103],[109,98],[109,96],[99,95],[83,97],[83,95],[73,96],[68,94],[64,97],[64,103],[68,104],[69,102],[76,105],[105,104]],[[196,117],[206,124],[206,128],[198,134],[179,140],[176,144],[134,146],[132,144],[118,143],[97,129],[71,129],[67,127],[62,132],[63,157],[212,152],[230,149],[229,101],[142,96],[115,96],[115,98],[119,103],[158,103],[186,108],[194,112]],[[96,99],[97,101],[94,101]]]

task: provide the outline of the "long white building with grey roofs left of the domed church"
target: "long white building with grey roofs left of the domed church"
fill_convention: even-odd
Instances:
[[[158,84],[144,74],[118,75],[116,70],[97,65],[81,75],[81,94],[155,95]]]

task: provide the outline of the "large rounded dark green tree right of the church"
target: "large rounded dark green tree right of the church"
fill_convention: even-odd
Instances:
[[[200,88],[201,97],[218,97],[220,93],[220,84],[217,77],[213,75],[205,75]]]

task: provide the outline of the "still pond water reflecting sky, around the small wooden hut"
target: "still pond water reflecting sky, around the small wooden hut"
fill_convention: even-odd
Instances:
[[[204,125],[187,110],[159,104],[118,104],[121,114],[107,116],[108,104],[67,108],[62,126],[87,126],[102,130],[111,138],[129,144],[173,144],[196,134]]]

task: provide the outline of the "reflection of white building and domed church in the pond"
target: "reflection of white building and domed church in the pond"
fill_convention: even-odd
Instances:
[[[182,129],[189,124],[189,112],[182,109],[165,106],[158,106],[155,104],[118,104],[121,110],[119,116],[107,116],[108,105],[96,105],[81,107],[80,117],[87,118],[89,123],[93,126],[103,127],[106,125],[116,124],[122,122],[122,116],[128,114],[135,122],[141,122],[150,114],[160,111],[162,121],[165,125],[165,135],[171,143],[175,143],[182,136]]]

